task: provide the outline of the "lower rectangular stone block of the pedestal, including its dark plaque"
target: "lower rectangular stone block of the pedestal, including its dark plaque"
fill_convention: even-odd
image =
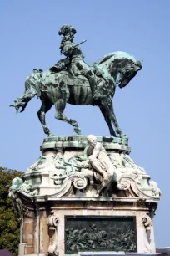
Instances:
[[[138,198],[32,200],[23,218],[21,239],[25,253],[20,256],[77,255],[78,251],[155,253],[156,207],[155,202]]]

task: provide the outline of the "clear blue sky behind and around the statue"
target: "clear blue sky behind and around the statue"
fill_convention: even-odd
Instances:
[[[135,79],[117,89],[114,105],[133,160],[163,192],[154,220],[158,247],[170,246],[169,13],[169,0],[18,0],[2,1],[0,9],[0,166],[26,171],[40,155],[40,101],[33,99],[20,115],[8,105],[23,94],[32,69],[46,70],[60,59],[57,31],[63,24],[77,29],[77,43],[87,39],[82,51],[89,64],[117,50],[143,60]],[[78,121],[83,134],[109,136],[97,107],[67,105],[66,114]],[[47,124],[56,135],[73,133],[72,126],[54,119],[54,109],[47,113]]]

